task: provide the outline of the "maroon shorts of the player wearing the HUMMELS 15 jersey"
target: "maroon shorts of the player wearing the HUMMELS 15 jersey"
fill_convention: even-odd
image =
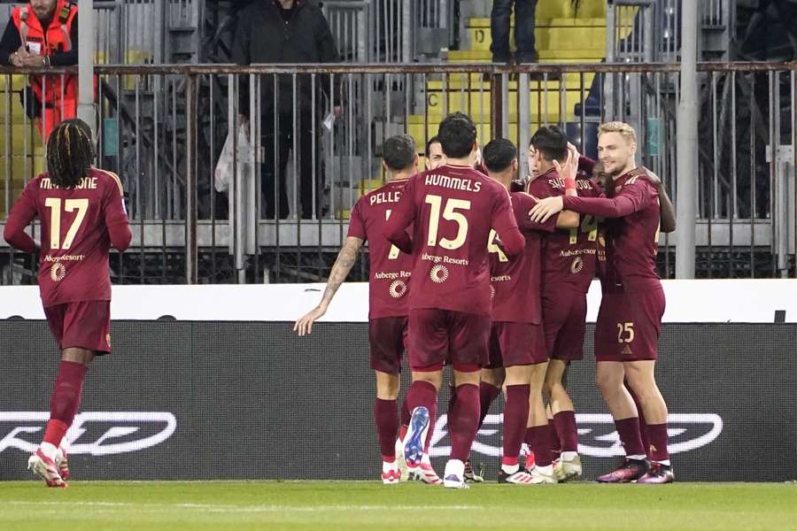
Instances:
[[[456,365],[486,366],[490,362],[489,315],[418,308],[409,315],[409,360],[413,369]]]

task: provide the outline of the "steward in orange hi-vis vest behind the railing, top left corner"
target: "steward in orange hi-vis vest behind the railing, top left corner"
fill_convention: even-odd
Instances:
[[[0,40],[0,60],[16,66],[77,65],[77,6],[69,0],[33,0],[12,10],[12,22]],[[47,142],[61,120],[77,113],[77,76],[32,75],[25,99],[28,117],[39,119]]]

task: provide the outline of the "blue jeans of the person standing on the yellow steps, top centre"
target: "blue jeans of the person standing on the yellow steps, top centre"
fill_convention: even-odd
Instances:
[[[515,60],[518,63],[536,63],[534,49],[534,12],[537,0],[495,0],[490,15],[492,61],[505,63],[512,54],[509,51],[509,17],[515,4]]]

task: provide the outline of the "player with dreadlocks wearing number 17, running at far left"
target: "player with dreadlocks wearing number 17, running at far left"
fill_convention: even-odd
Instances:
[[[58,124],[47,142],[47,173],[27,183],[8,216],[4,238],[40,252],[44,315],[61,350],[42,444],[27,467],[48,487],[66,487],[64,435],[81,405],[95,356],[111,352],[110,248],[126,250],[132,235],[117,175],[92,167],[91,129],[81,119]],[[41,246],[25,233],[38,217]]]

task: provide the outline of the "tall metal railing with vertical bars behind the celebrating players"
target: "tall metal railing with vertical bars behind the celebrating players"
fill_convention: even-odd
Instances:
[[[699,64],[708,80],[698,109],[700,193],[694,198],[703,276],[793,271],[795,70]],[[19,84],[19,72],[0,71],[6,110],[19,107],[10,85],[14,73]],[[603,84],[592,83],[608,75],[642,88],[611,113]],[[594,157],[598,123],[630,121],[638,132],[638,163],[678,193],[677,65],[114,65],[98,66],[97,76],[99,165],[120,173],[134,228],[131,250],[112,259],[122,282],[326,278],[352,204],[383,182],[384,139],[409,133],[421,152],[440,119],[454,111],[474,118],[479,142],[499,135],[518,142],[521,160],[541,125],[566,128]],[[218,89],[220,78],[226,89]],[[408,92],[385,97],[395,96],[399,83],[419,88],[425,104],[414,104]],[[248,166],[232,165],[228,192],[220,193],[214,169],[229,124],[236,123],[240,86],[250,88],[253,118],[246,132],[254,149],[245,152]],[[594,116],[576,112],[590,100]],[[342,111],[333,120],[338,104]],[[19,111],[0,127],[3,212],[42,169],[36,135]],[[665,277],[674,273],[673,238],[677,232],[661,240]],[[33,271],[6,252],[0,281]],[[365,278],[365,261],[356,274]]]

